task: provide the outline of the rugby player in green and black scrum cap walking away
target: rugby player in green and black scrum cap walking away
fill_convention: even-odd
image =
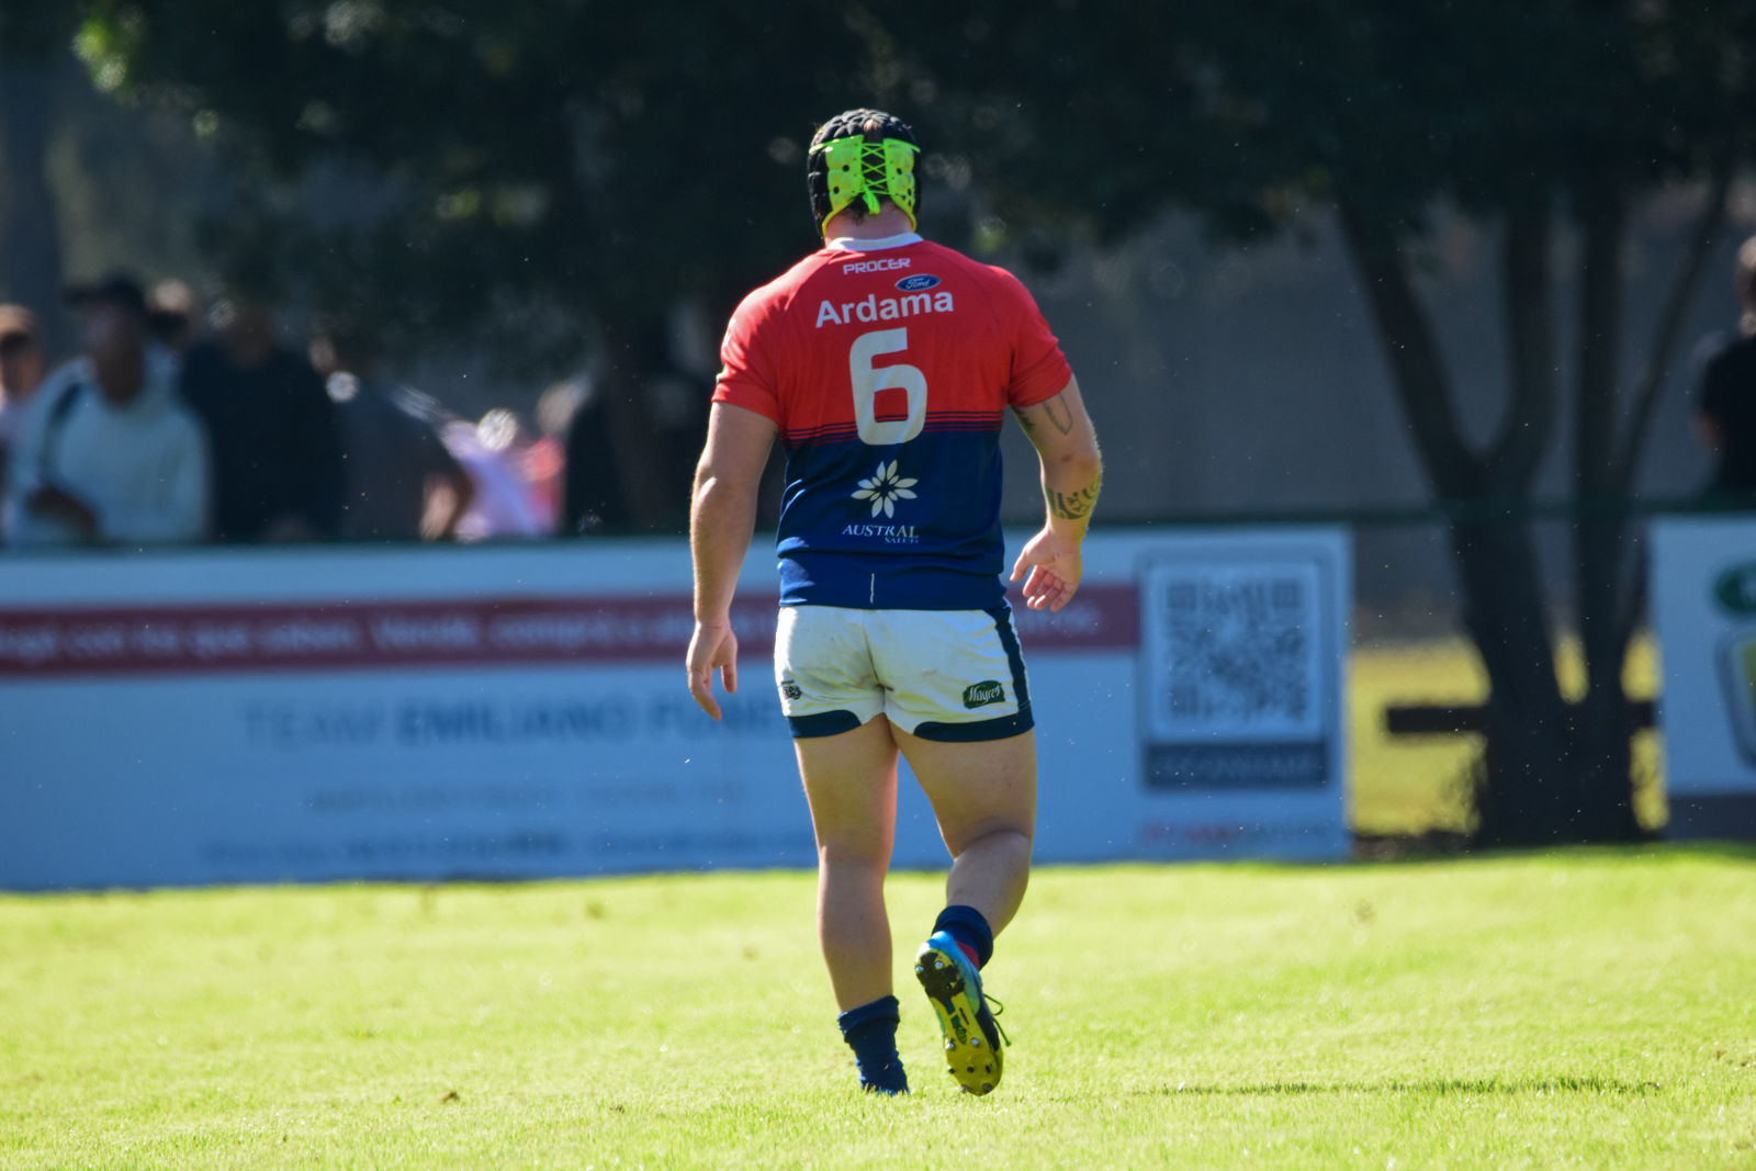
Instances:
[[[713,672],[738,690],[732,590],[780,435],[774,676],[817,830],[838,1024],[864,1088],[908,1092],[883,901],[901,753],[952,853],[915,974],[952,1076],[987,1094],[1003,1048],[980,973],[1024,901],[1036,823],[1031,692],[1001,581],[1006,409],[1048,506],[1011,569],[1033,609],[1061,609],[1080,585],[1101,463],[1026,288],[917,235],[918,153],[882,111],[824,123],[806,179],[825,244],[732,314],[695,471],[688,685],[715,720]]]

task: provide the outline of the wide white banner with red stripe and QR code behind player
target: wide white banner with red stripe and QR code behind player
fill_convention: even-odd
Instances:
[[[1343,855],[1347,569],[1335,530],[1092,535],[1018,611],[1038,857]],[[674,539],[9,557],[0,887],[811,866],[776,581],[755,551],[713,723]],[[901,788],[896,864],[943,866]]]

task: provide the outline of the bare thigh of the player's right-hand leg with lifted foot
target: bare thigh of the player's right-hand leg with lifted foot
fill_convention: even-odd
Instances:
[[[932,802],[954,858],[989,834],[1036,837],[1036,732],[946,743],[890,725],[890,736]]]

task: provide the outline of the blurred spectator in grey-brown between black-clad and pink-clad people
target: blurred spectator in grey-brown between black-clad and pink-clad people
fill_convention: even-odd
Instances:
[[[378,348],[358,327],[334,321],[311,342],[341,420],[348,541],[443,541],[476,495],[469,472],[439,437],[432,399],[378,372]]]

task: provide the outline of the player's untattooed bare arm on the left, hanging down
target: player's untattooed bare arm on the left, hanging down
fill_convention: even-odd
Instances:
[[[732,634],[732,593],[757,527],[757,488],[778,428],[774,421],[715,402],[708,444],[695,467],[688,511],[688,546],[695,560],[695,634],[688,641],[688,690],[715,720],[713,672],[727,692],[738,690],[738,637]]]

